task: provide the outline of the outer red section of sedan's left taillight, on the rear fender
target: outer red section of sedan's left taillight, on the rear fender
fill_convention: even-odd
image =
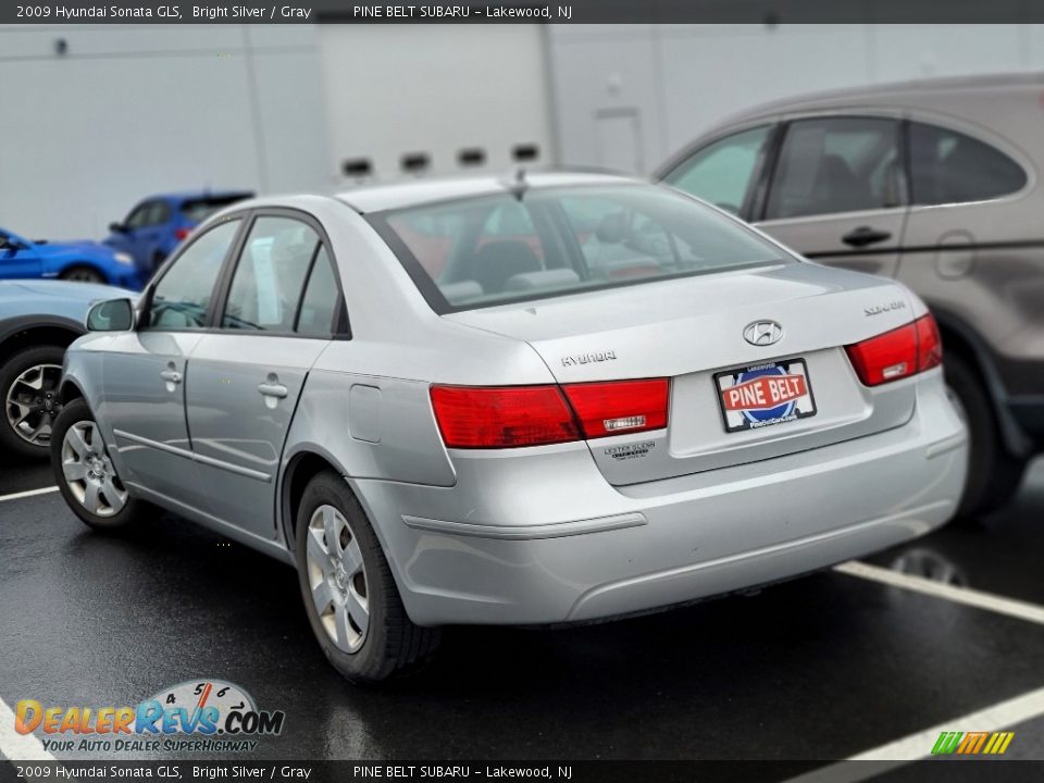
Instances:
[[[450,448],[540,446],[580,439],[558,386],[433,386],[432,406]]]

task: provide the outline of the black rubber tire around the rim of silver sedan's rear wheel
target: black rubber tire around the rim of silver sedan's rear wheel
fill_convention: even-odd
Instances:
[[[348,521],[359,540],[362,561],[366,569],[370,625],[366,630],[366,638],[357,652],[345,652],[334,644],[320,622],[319,613],[312,602],[306,555],[308,522],[315,509],[326,505],[336,508]],[[394,669],[394,666],[389,666],[386,656],[389,619],[386,597],[388,587],[395,589],[395,585],[376,534],[359,501],[345,485],[344,478],[333,473],[323,473],[308,485],[297,512],[295,546],[301,600],[304,602],[309,625],[323,654],[337,671],[352,682],[368,683],[385,679]]]

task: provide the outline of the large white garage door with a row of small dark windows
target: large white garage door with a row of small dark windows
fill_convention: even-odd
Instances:
[[[547,59],[535,25],[327,25],[320,28],[333,172],[345,186],[412,176],[507,173],[518,146],[555,160]],[[462,165],[461,150],[484,153]],[[403,171],[407,154],[427,157]],[[371,175],[345,175],[368,161]]]

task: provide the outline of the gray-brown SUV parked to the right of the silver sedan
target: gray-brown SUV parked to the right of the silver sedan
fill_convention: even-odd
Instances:
[[[972,439],[966,519],[1044,444],[1044,76],[933,79],[762,105],[656,174],[821,263],[929,304]]]

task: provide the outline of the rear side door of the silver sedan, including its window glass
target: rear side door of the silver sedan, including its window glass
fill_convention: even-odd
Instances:
[[[275,536],[286,433],[309,370],[333,336],[340,297],[320,225],[295,211],[256,213],[214,330],[189,361],[186,415],[214,514]]]

